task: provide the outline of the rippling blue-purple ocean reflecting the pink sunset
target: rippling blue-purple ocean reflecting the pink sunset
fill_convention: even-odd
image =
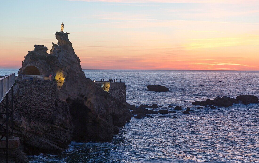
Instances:
[[[258,103],[216,109],[192,105],[222,96],[259,97],[259,71],[83,71],[92,80],[122,78],[131,105],[179,105],[193,111],[132,118],[112,142],[71,142],[61,154],[29,156],[30,162],[259,162]],[[1,75],[13,72],[18,69],[0,69]],[[147,90],[147,85],[155,84],[169,92]]]

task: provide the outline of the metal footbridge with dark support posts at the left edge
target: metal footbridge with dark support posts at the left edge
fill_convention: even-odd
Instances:
[[[4,108],[0,114],[5,116],[3,122],[0,122],[0,148],[6,149],[6,162],[8,162],[8,149],[19,147],[19,138],[13,136],[13,85],[15,83],[15,73],[0,78],[0,104]],[[11,96],[10,96],[11,93]],[[9,96],[11,100],[9,100]],[[11,106],[9,106],[11,104]],[[3,116],[3,117],[4,117]],[[11,118],[11,130],[9,129],[9,118]],[[9,130],[11,133],[9,133]]]

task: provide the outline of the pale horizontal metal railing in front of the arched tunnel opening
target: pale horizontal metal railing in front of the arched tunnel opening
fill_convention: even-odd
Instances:
[[[21,81],[53,81],[53,79],[53,76],[15,75],[15,80]]]

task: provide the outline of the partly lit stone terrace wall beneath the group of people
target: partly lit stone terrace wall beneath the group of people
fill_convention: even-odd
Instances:
[[[126,85],[119,82],[96,82],[97,85],[103,85],[103,89],[109,92],[113,97],[120,102],[126,104]]]

